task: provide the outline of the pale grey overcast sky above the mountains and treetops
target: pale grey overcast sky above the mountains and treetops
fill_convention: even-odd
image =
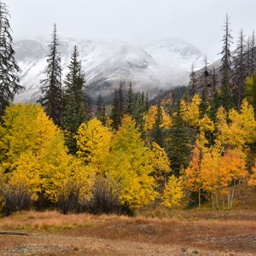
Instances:
[[[55,22],[62,37],[144,44],[183,38],[212,60],[230,15],[233,36],[256,26],[255,0],[4,0],[14,38],[49,36]]]

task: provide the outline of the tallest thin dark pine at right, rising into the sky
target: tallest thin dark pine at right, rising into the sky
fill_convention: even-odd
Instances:
[[[230,90],[230,72],[231,72],[231,53],[230,46],[232,44],[232,36],[230,34],[230,19],[226,15],[225,25],[224,25],[224,37],[222,39],[224,42],[223,49],[221,51],[221,94],[219,96],[219,101],[221,105],[229,110],[232,108],[232,94]]]

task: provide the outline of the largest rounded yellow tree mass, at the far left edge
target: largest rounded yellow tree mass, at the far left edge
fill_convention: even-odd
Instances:
[[[9,184],[13,188],[25,189],[33,201],[38,193],[50,201],[57,201],[63,183],[83,173],[78,181],[84,188],[90,187],[90,176],[79,160],[67,154],[61,131],[48,119],[43,108],[36,105],[18,104],[7,108],[0,129],[0,150],[4,157],[0,168],[9,171]]]

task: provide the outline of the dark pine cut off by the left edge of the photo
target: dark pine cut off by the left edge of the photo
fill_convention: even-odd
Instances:
[[[5,3],[0,1],[0,116],[15,94],[23,87],[20,86],[17,73],[20,68],[15,61],[13,38],[9,24],[9,11]]]

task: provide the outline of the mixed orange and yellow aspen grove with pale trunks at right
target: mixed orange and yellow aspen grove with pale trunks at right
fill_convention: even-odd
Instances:
[[[185,170],[186,186],[197,191],[201,204],[201,190],[212,197],[212,207],[222,199],[224,207],[233,204],[237,184],[255,185],[255,165],[250,145],[256,143],[256,121],[253,107],[246,100],[241,109],[218,108],[217,121],[206,115],[200,118],[201,99],[195,95],[192,102],[181,102],[183,119],[189,127],[196,128],[198,136],[189,163]],[[209,137],[210,134],[210,137]],[[208,135],[208,136],[207,136]],[[213,137],[213,143],[211,143]]]

